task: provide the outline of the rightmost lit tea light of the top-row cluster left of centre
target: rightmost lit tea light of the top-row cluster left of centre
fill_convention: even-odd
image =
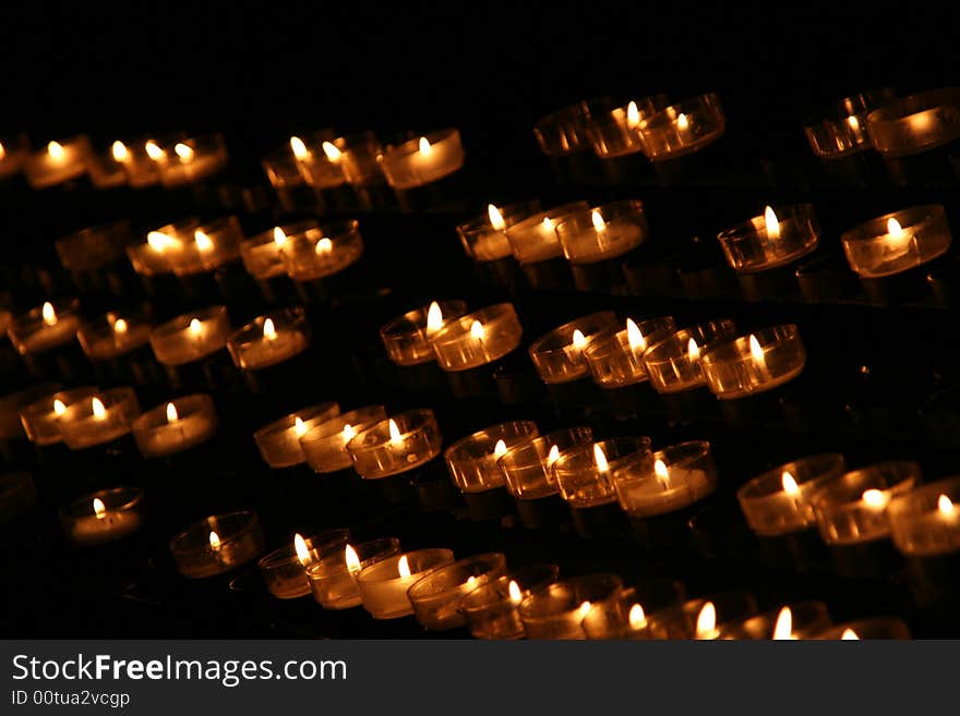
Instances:
[[[381,167],[391,186],[409,190],[453,174],[464,166],[464,158],[459,131],[444,129],[385,146]]]

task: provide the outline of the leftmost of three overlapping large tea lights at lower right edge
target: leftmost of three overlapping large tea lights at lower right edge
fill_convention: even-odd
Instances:
[[[843,456],[825,452],[788,462],[751,480],[736,492],[747,524],[763,537],[778,537],[816,524],[813,499],[847,471]]]

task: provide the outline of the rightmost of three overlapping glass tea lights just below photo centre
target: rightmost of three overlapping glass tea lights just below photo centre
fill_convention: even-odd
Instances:
[[[361,477],[380,480],[433,460],[442,441],[433,411],[410,410],[367,428],[347,444],[347,451]]]

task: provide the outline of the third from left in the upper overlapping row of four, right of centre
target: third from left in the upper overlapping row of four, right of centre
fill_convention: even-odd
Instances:
[[[650,385],[659,393],[674,393],[707,385],[700,366],[704,350],[736,332],[731,319],[711,320],[683,328],[644,353],[644,367]]]

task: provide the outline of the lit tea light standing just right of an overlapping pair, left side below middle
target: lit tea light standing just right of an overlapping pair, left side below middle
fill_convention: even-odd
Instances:
[[[143,413],[133,422],[133,437],[143,457],[165,458],[206,442],[217,426],[213,399],[197,393]]]

